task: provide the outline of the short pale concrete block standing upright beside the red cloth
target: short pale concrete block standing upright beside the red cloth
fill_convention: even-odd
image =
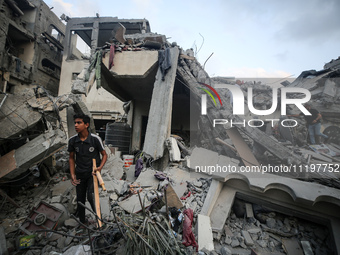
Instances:
[[[208,216],[198,214],[197,216],[198,249],[214,250],[213,234]]]

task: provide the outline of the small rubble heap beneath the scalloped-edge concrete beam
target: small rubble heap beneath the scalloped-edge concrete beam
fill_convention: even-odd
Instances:
[[[295,244],[298,240],[303,240],[313,254],[334,254],[326,227],[256,204],[252,205],[254,215],[248,217],[244,205],[244,201],[235,200],[223,232],[214,234],[218,254],[250,254],[251,250],[256,254],[290,254],[292,247],[298,247],[292,254],[303,254]]]

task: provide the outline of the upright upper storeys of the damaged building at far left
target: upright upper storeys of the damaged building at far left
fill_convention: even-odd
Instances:
[[[31,84],[58,94],[65,25],[41,0],[0,2],[2,91]]]

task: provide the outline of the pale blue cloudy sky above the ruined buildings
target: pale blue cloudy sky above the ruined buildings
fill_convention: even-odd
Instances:
[[[210,77],[293,78],[340,56],[339,0],[45,2],[57,16],[145,18],[152,32],[193,48]]]

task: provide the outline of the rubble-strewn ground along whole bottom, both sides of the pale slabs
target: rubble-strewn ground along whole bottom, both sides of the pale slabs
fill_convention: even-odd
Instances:
[[[87,226],[81,226],[73,216],[75,188],[69,179],[68,153],[59,151],[55,155],[58,171],[49,180],[37,170],[21,183],[11,183],[8,194],[18,208],[6,198],[1,202],[0,234],[9,254],[91,254],[91,249],[94,254],[197,254],[195,245],[182,244],[183,235],[187,235],[184,210],[193,211],[192,230],[197,241],[197,215],[211,178],[195,178],[181,162],[171,163],[164,172],[144,167],[136,178],[134,165],[125,169],[118,155],[108,147],[106,151],[109,157],[102,176],[107,190],[100,191],[102,228],[96,227],[96,217],[89,210]],[[25,222],[41,203],[62,210],[63,216],[55,226],[29,235]],[[198,254],[288,254],[287,249],[297,241],[305,241],[314,254],[335,254],[324,225],[257,204],[251,205],[253,216],[248,215],[245,204],[235,200],[223,232],[214,232],[214,250],[200,249]],[[167,211],[172,217],[167,217]],[[24,247],[21,238],[28,237],[31,241]]]

